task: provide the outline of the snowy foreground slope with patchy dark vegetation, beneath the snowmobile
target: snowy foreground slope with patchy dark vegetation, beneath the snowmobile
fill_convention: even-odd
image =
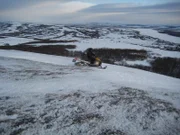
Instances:
[[[104,64],[106,65],[106,64]],[[0,50],[0,134],[178,134],[180,80]]]

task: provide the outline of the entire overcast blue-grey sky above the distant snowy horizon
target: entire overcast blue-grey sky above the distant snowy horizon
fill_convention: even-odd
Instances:
[[[179,0],[0,0],[0,21],[180,25]]]

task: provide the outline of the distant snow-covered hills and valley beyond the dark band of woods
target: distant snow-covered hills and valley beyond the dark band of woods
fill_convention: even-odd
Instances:
[[[123,26],[123,25],[45,25],[31,23],[0,22],[0,45],[17,45],[49,40],[77,40],[75,50],[92,48],[144,49],[152,56],[180,58],[180,38],[160,34],[160,26]],[[163,29],[169,30],[168,26]],[[175,28],[174,28],[175,29]],[[179,30],[179,27],[177,27]],[[31,45],[61,45],[65,43],[31,43]]]

